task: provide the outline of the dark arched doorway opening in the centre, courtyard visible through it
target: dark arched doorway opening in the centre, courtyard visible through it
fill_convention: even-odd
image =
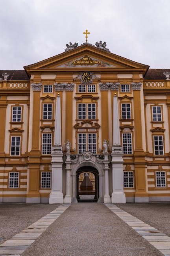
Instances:
[[[83,166],[77,170],[76,198],[78,202],[97,202],[99,198],[99,178],[96,168]]]

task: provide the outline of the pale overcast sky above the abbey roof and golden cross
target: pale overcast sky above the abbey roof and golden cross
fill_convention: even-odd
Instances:
[[[106,41],[117,55],[170,69],[170,0],[0,0],[0,69],[23,69],[66,43]]]

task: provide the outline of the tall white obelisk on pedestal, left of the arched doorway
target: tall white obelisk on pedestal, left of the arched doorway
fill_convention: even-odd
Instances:
[[[61,100],[56,99],[54,147],[52,147],[52,191],[50,204],[63,204],[63,147],[61,146]]]

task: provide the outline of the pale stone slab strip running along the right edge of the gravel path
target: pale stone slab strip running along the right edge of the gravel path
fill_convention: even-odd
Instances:
[[[164,256],[170,256],[170,237],[161,233],[156,228],[144,223],[133,215],[118,208],[114,204],[105,204],[113,211],[120,219],[133,228],[140,236],[146,239],[151,245],[159,250]]]

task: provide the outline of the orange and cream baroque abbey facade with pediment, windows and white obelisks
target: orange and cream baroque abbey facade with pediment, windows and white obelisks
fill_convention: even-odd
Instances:
[[[0,202],[170,200],[170,69],[96,46],[0,70]]]

